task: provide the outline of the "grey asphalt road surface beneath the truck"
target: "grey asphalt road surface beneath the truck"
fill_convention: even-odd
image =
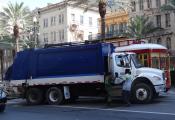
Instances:
[[[175,92],[163,94],[151,104],[131,107],[120,100],[108,107],[97,98],[61,106],[27,106],[23,100],[11,100],[0,120],[175,120]]]

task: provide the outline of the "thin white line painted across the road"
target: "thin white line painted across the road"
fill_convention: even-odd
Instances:
[[[54,105],[55,106],[55,105]],[[75,106],[55,106],[58,108],[73,108],[73,109],[87,109],[87,110],[101,110],[101,111],[114,111],[114,112],[128,112],[128,113],[141,113],[141,114],[155,114],[155,115],[170,115],[175,116],[175,113],[166,112],[151,112],[151,111],[137,111],[137,110],[119,110],[111,108],[93,108],[93,107],[75,107]]]

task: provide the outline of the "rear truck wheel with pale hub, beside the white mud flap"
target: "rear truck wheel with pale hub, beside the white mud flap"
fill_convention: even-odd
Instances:
[[[50,105],[59,105],[64,101],[63,92],[60,88],[51,87],[47,90],[46,100]]]

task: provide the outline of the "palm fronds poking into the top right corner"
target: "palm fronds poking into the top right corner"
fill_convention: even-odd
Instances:
[[[175,11],[175,0],[168,0],[167,3],[161,6],[162,11]]]

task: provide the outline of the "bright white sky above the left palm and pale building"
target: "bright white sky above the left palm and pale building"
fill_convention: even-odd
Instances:
[[[0,10],[3,7],[7,6],[9,2],[12,3],[21,3],[24,2],[24,6],[28,6],[30,10],[35,9],[36,7],[44,7],[47,6],[47,3],[58,3],[62,0],[0,0]]]

